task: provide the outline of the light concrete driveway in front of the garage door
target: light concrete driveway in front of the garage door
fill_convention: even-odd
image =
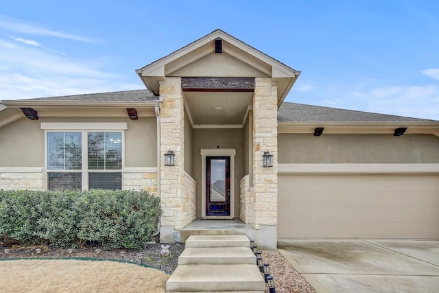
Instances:
[[[439,240],[281,239],[318,292],[439,292]]]

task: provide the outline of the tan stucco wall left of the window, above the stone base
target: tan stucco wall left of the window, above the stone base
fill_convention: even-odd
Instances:
[[[44,131],[21,118],[0,128],[0,167],[44,167]]]

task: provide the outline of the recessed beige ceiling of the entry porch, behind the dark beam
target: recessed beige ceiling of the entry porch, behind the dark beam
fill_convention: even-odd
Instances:
[[[185,92],[193,127],[238,127],[244,124],[254,93]]]

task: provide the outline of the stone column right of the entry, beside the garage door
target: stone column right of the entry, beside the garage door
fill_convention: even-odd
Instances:
[[[262,156],[266,151],[273,155],[273,167],[263,167]],[[260,237],[259,244],[265,241],[264,246],[272,248],[276,248],[277,162],[277,85],[272,84],[271,78],[256,78],[253,97],[254,228],[263,230],[264,239],[271,238],[263,240]]]

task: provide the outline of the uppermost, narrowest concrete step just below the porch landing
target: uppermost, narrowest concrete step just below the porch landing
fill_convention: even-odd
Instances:
[[[250,240],[246,235],[191,235],[186,247],[248,247]]]

